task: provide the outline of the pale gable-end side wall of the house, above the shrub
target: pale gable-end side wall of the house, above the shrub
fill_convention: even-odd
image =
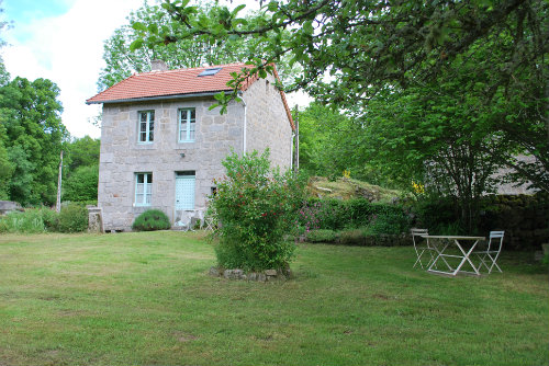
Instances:
[[[246,151],[262,152],[267,147],[273,165],[290,168],[292,127],[274,79],[259,79],[243,95],[246,111]]]

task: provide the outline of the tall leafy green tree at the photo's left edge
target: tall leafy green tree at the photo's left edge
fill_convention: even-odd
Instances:
[[[14,167],[10,198],[21,204],[53,204],[61,144],[68,133],[60,119],[59,89],[47,79],[15,78],[0,88],[0,127]]]

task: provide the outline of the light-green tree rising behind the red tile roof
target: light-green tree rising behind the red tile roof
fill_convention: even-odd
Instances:
[[[195,11],[199,19],[214,19],[220,16],[220,12],[224,9],[215,3],[206,2],[197,7]],[[246,21],[257,21],[256,18],[258,15],[251,15]],[[103,59],[107,67],[101,70],[98,81],[99,90],[112,87],[132,76],[133,72],[150,71],[150,61],[154,59],[164,60],[169,69],[240,62],[246,55],[261,47],[261,44],[257,42],[245,41],[240,37],[229,37],[222,42],[200,36],[141,47],[132,53],[131,45],[141,41],[138,34],[144,30],[154,33],[178,33],[180,24],[172,22],[160,7],[147,3],[130,14],[128,23],[115,30],[104,43]],[[147,26],[132,27],[133,24],[147,24]],[[281,67],[284,69],[284,75],[292,73],[285,64]]]

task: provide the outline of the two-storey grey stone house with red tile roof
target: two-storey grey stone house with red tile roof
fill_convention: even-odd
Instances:
[[[167,70],[155,61],[153,71],[87,101],[103,104],[98,206],[105,231],[130,230],[152,208],[175,227],[186,214],[201,217],[231,150],[269,148],[273,165],[290,168],[294,124],[276,71],[249,80],[239,91],[243,102],[231,102],[226,114],[209,110],[216,93],[231,91],[231,72],[244,67]]]

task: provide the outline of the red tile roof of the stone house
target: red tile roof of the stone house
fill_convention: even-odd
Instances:
[[[144,73],[135,73],[127,79],[112,85],[111,88],[100,92],[99,94],[86,101],[87,104],[100,103],[116,103],[116,102],[132,102],[133,100],[153,99],[163,96],[184,96],[186,94],[201,94],[214,93],[220,91],[231,91],[227,82],[233,79],[231,72],[239,72],[243,68],[250,68],[251,66],[244,62],[205,66],[192,69],[178,69],[168,71],[150,71]],[[221,70],[213,76],[199,77],[199,73],[205,69],[221,68]],[[274,69],[274,77],[279,79],[278,72]],[[248,80],[242,87],[246,90],[258,78],[255,77]],[[290,121],[292,129],[295,129],[293,124],[292,114],[288,106],[284,92],[280,91],[284,110]]]

